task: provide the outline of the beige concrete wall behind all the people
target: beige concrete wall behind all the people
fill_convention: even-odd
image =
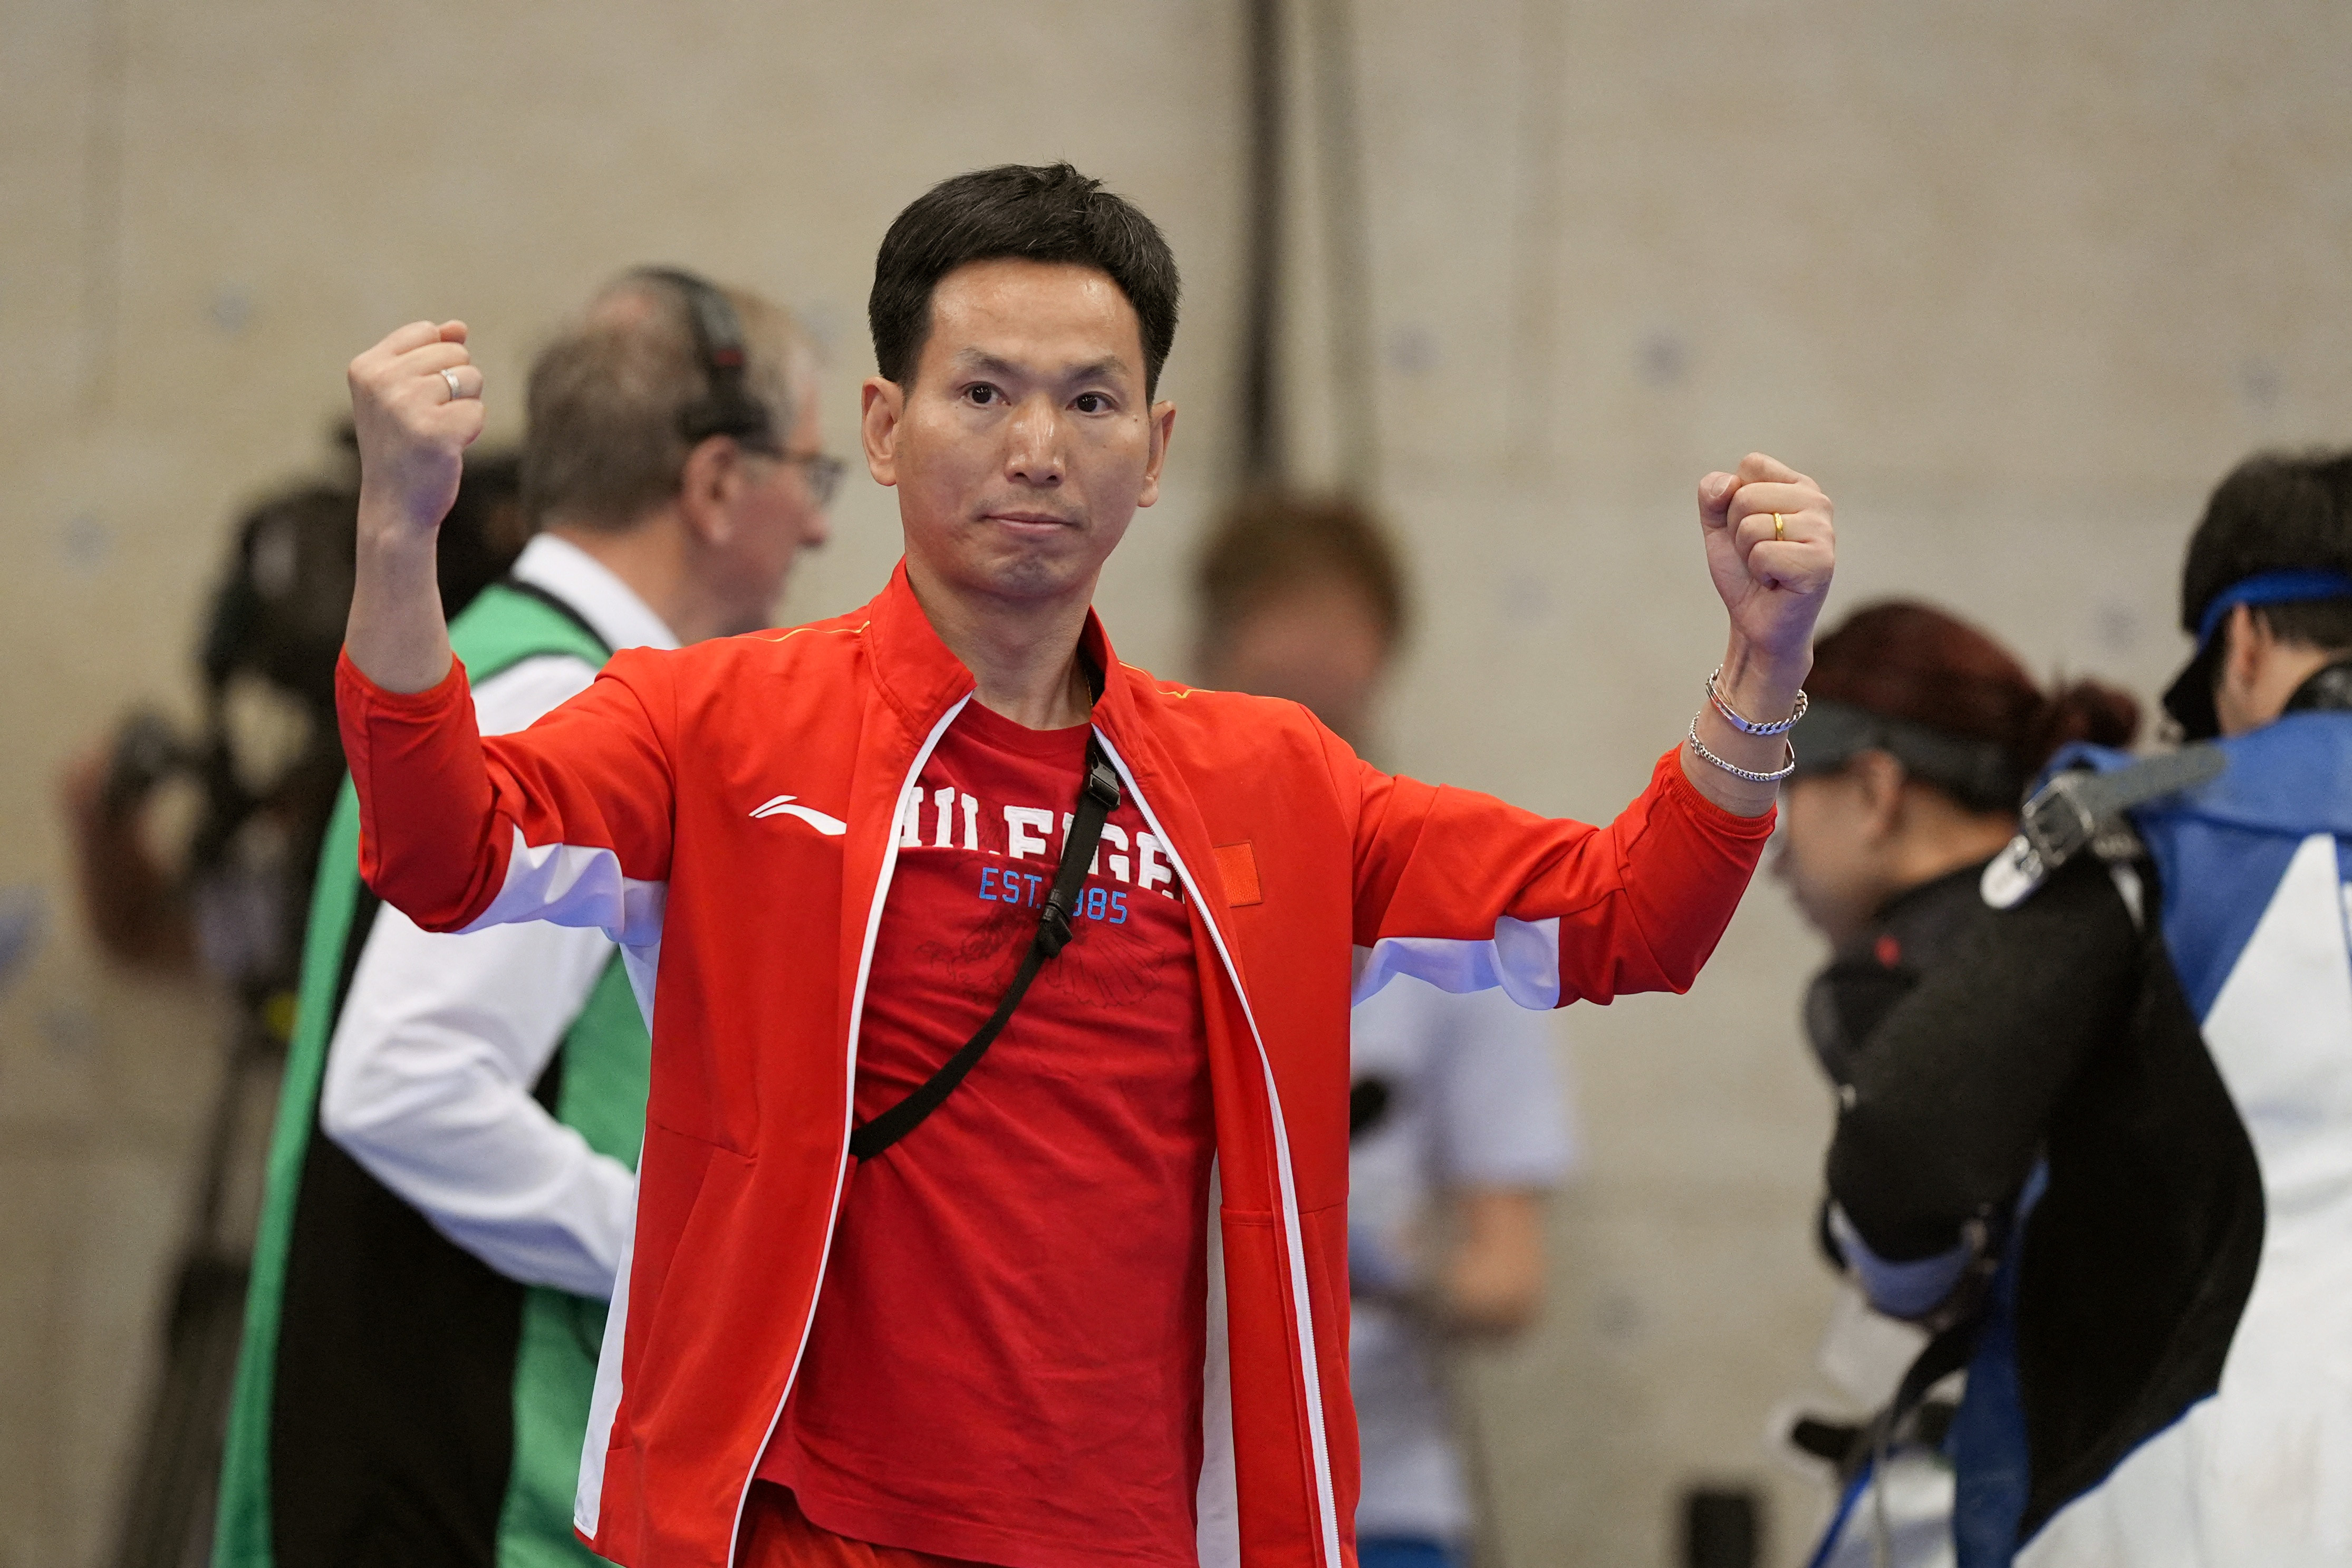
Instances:
[[[2347,33],[2321,0],[1359,0],[1376,475],[1425,611],[1390,755],[1623,802],[1722,639],[1691,482],[1752,447],[1837,496],[1842,604],[1931,592],[2042,670],[2159,686],[2201,491],[2352,435]],[[132,698],[186,698],[228,520],[318,463],[343,360],[463,315],[510,433],[564,308],[684,261],[809,313],[849,451],[889,214],[1068,155],[1185,266],[1169,494],[1103,590],[1122,651],[1178,670],[1230,477],[1237,66],[1209,0],[0,0],[0,889],[52,900],[0,997],[0,1568],[103,1549],[214,1077],[212,1004],[78,936],[54,778]],[[1284,386],[1331,477],[1322,195],[1303,143]],[[896,555],[887,494],[837,524],[795,616]],[[1818,1495],[1759,1429],[1830,1295],[1816,957],[1759,889],[1689,999],[1564,1020],[1592,1173],[1550,1319],[1472,1368],[1512,1568],[1670,1561],[1691,1476],[1769,1486],[1773,1561],[1799,1547]]]

